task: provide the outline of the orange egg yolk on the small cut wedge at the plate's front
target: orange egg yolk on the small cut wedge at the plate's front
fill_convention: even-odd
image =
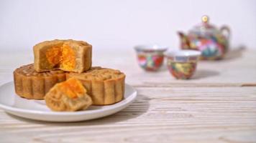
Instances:
[[[86,89],[78,79],[71,78],[59,84],[61,91],[69,98],[77,98],[79,94],[85,94]]]

